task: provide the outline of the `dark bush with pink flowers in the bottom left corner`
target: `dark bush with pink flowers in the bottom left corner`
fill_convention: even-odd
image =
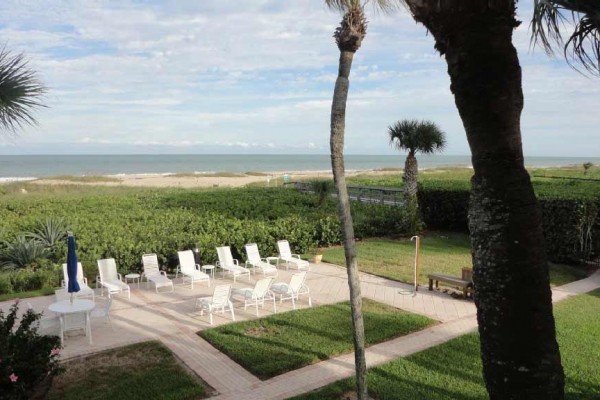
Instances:
[[[0,310],[0,399],[29,399],[46,379],[61,371],[60,338],[38,333],[42,314],[29,309],[17,324],[19,302]]]

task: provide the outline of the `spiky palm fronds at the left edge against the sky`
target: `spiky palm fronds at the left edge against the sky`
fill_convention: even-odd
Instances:
[[[45,92],[23,54],[0,49],[0,131],[14,133],[23,125],[35,124],[32,110],[45,107],[41,103]]]

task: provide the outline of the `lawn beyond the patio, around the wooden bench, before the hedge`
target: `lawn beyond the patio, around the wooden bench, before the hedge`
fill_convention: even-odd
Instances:
[[[365,239],[356,243],[356,251],[358,267],[362,272],[412,283],[415,242],[409,239]],[[323,260],[345,265],[344,249],[325,249]],[[468,235],[428,232],[421,238],[421,284],[428,283],[427,274],[461,276],[461,268],[471,266],[471,243]],[[585,271],[567,265],[556,264],[550,268],[553,285],[563,285],[585,276]]]

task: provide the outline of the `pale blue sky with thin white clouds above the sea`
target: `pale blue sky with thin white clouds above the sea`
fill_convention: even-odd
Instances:
[[[514,35],[526,156],[595,157],[600,82]],[[48,86],[39,125],[0,154],[327,153],[340,15],[319,0],[3,0],[0,37]],[[387,127],[435,121],[469,154],[445,60],[405,10],[367,9],[350,77],[348,154],[393,154]]]

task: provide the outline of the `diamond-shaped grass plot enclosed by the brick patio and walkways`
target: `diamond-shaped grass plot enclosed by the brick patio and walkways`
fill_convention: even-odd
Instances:
[[[363,315],[367,346],[434,323],[368,299],[363,299]],[[271,378],[351,351],[350,303],[275,314],[199,335],[259,378]]]

